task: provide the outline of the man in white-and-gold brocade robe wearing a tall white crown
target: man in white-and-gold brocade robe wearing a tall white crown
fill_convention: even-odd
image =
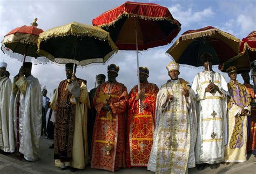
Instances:
[[[195,166],[196,106],[178,78],[179,64],[167,65],[171,80],[161,86],[156,103],[156,129],[147,169],[156,173],[186,173]]]

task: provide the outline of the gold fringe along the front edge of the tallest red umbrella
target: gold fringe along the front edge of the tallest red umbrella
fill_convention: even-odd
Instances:
[[[180,26],[181,24],[179,23],[178,20],[176,19],[173,19],[171,17],[149,17],[149,16],[143,16],[143,15],[140,15],[140,14],[134,14],[134,13],[127,13],[127,12],[123,12],[123,14],[120,14],[116,20],[112,21],[111,23],[108,23],[108,24],[102,24],[102,25],[97,25],[98,27],[105,27],[106,29],[108,29],[111,25],[114,25],[116,24],[116,22],[119,20],[119,19],[122,19],[123,17],[130,17],[130,18],[140,18],[140,19],[144,19],[144,20],[168,20],[170,21],[170,23],[172,24],[176,24],[180,30]],[[93,24],[95,25],[95,24]]]

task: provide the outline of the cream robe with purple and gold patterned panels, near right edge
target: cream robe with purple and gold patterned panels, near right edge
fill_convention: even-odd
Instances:
[[[250,114],[250,95],[237,81],[228,83],[228,144],[225,147],[225,162],[246,161],[247,115],[241,115],[243,109]]]

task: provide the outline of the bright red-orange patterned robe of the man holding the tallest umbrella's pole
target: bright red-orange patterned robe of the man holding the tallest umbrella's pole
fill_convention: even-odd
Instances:
[[[127,167],[147,166],[150,151],[153,144],[154,112],[156,109],[156,98],[159,91],[156,84],[140,83],[143,98],[141,103],[147,107],[139,113],[139,102],[135,98],[138,94],[138,85],[134,86],[129,93],[129,114],[127,119],[127,142],[126,163]]]

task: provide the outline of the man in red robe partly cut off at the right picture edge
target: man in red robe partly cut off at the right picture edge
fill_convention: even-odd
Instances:
[[[253,91],[253,85],[250,84],[250,75],[247,72],[244,72],[241,74],[242,79],[244,79],[244,85],[246,86],[248,92],[250,93],[250,102],[254,102],[254,91]],[[251,104],[251,115],[248,116],[248,134],[247,134],[247,152],[251,152],[255,147],[255,134],[256,134],[256,111],[255,106]]]

